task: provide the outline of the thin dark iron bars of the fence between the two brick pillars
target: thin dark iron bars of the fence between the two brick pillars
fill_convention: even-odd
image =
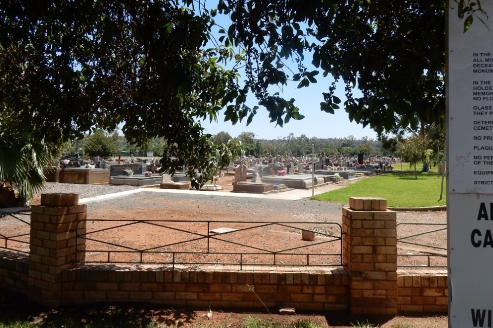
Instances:
[[[85,231],[84,233],[80,233],[81,227],[86,227],[87,222],[90,221],[91,223],[94,222],[116,222],[118,223],[116,226],[108,227],[108,228],[102,228],[102,229],[97,229],[95,231],[87,232]],[[84,223],[84,225],[82,225]],[[148,248],[136,248],[136,247],[131,247],[131,246],[125,246],[125,245],[120,245],[108,241],[102,241],[98,240],[96,238],[89,237],[90,235],[97,234],[97,233],[102,233],[110,230],[115,230],[123,227],[127,227],[133,224],[137,223],[143,223],[143,224],[149,224],[153,226],[158,226],[161,228],[169,229],[171,231],[175,232],[181,232],[185,234],[189,234],[191,236],[195,236],[196,238],[192,239],[187,239],[185,241],[179,241],[179,242],[173,242],[173,243],[168,243],[164,245],[159,245],[159,246],[152,246]],[[177,227],[171,226],[172,224],[203,224],[205,228],[207,227],[207,233],[199,233],[195,231],[190,231],[187,229],[181,229]],[[248,227],[243,227],[243,228],[238,228],[233,231],[227,231],[223,233],[212,233],[211,232],[211,225],[227,225],[227,224],[235,224],[235,225],[249,225]],[[311,225],[313,226],[332,226],[337,233],[324,233],[320,232],[317,230],[312,230],[313,228],[305,229],[301,228],[299,226],[302,225]],[[245,245],[239,242],[235,242],[232,240],[225,239],[225,237],[235,234],[235,233],[241,233],[245,232],[248,230],[252,229],[257,229],[257,228],[265,228],[268,226],[281,226],[285,227],[288,229],[295,229],[298,231],[306,231],[306,232],[312,232],[319,237],[322,238],[327,238],[328,240],[326,241],[319,241],[316,243],[310,243],[309,245],[303,245],[303,246],[296,246],[296,247],[289,247],[281,250],[269,250],[269,249],[264,249],[261,247],[257,246],[251,246],[251,245]],[[301,234],[300,234],[301,235]],[[339,235],[339,236],[337,236]],[[76,241],[76,251],[84,251],[86,254],[90,253],[104,253],[106,254],[106,260],[82,260],[82,262],[85,263],[106,263],[106,262],[111,262],[111,263],[139,263],[139,264],[172,264],[173,266],[176,264],[236,264],[240,265],[243,267],[243,265],[276,265],[277,258],[279,256],[305,256],[306,257],[306,262],[304,264],[292,264],[292,265],[342,265],[342,253],[341,250],[337,253],[330,253],[330,252],[325,252],[325,253],[313,253],[313,252],[292,252],[298,249],[306,248],[306,247],[312,247],[312,246],[319,246],[323,244],[328,244],[328,243],[334,243],[334,242],[339,242],[340,249],[342,249],[342,227],[339,223],[335,222],[324,222],[324,223],[319,223],[319,222],[292,222],[292,223],[285,223],[285,222],[255,222],[255,221],[250,221],[250,222],[238,222],[238,221],[210,221],[210,220],[198,220],[198,221],[192,221],[192,220],[186,220],[186,221],[181,221],[181,220],[107,220],[107,219],[87,219],[83,220],[78,223],[77,228],[76,228],[76,239],[84,239],[87,241],[92,241],[95,243],[99,243],[100,245],[108,245],[108,246],[113,246],[113,247],[120,247],[123,248],[123,250],[108,250],[108,249],[89,249],[87,248],[87,245],[84,247],[84,249],[79,250],[78,245],[79,242]],[[170,246],[178,246],[178,245],[184,245],[187,243],[193,243],[193,242],[199,242],[199,241],[205,241],[207,243],[207,248],[205,251],[192,251],[192,250],[187,250],[187,251],[170,251],[166,250],[165,247],[170,247]],[[244,248],[249,249],[250,251],[217,251],[214,249],[211,249],[211,241],[218,241],[221,243],[226,243],[227,245],[232,245],[232,246],[241,246]],[[160,248],[163,248],[161,250],[158,250]],[[114,253],[125,253],[125,254],[138,254],[138,260],[111,260],[111,255]],[[166,260],[166,261],[159,261],[159,260],[152,260],[152,261],[144,261],[143,256],[144,254],[159,254],[161,256],[167,254],[171,256],[171,260]],[[240,256],[239,261],[237,262],[221,262],[219,263],[218,261],[214,262],[207,262],[207,261],[200,261],[200,262],[185,262],[185,261],[180,261],[177,259],[177,256],[179,255],[232,255],[232,256]],[[245,263],[244,256],[245,255],[268,255],[272,256],[273,262],[270,263],[259,263],[259,262],[254,262],[254,263]],[[331,264],[310,264],[310,257],[313,258],[313,256],[319,256],[319,257],[336,257],[337,256],[337,263],[331,263]],[[291,265],[291,264],[289,264]]]

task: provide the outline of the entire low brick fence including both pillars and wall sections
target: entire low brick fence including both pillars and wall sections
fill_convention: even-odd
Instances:
[[[377,198],[343,209],[343,267],[82,265],[86,219],[77,194],[43,194],[31,214],[30,253],[0,252],[0,288],[57,307],[148,302],[191,308],[350,310],[396,315],[447,312],[445,270],[397,269],[396,214]],[[79,229],[80,229],[79,225]],[[84,229],[84,227],[83,227]],[[78,258],[76,258],[76,256]]]

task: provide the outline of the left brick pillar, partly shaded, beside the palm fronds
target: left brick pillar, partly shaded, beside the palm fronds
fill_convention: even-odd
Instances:
[[[29,251],[29,299],[43,305],[61,304],[62,271],[76,264],[75,235],[77,223],[86,218],[86,205],[79,204],[78,194],[41,194],[41,205],[31,208]],[[85,221],[79,233],[85,233]],[[79,250],[85,249],[83,240]],[[77,255],[83,260],[85,252]]]

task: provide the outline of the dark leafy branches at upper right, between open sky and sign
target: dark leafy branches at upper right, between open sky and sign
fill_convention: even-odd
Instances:
[[[382,132],[443,121],[447,2],[220,0],[219,8],[233,22],[228,38],[246,50],[252,70],[261,70],[257,84],[287,79],[283,61],[293,56],[299,87],[316,82],[319,70],[335,79],[321,110],[339,108],[340,80],[350,120]],[[316,70],[304,65],[307,55]]]

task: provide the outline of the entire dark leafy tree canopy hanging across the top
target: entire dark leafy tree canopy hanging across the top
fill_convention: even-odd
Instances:
[[[457,4],[465,27],[482,12],[480,1]],[[0,1],[0,135],[59,145],[124,122],[131,144],[166,140],[164,168],[188,167],[200,186],[239,147],[210,142],[197,119],[216,120],[225,108],[225,120],[251,122],[258,107],[245,104],[250,92],[271,122],[301,119],[294,99],[269,86],[305,87],[319,71],[335,79],[321,110],[339,108],[342,81],[350,120],[377,132],[440,124],[446,5],[219,0],[208,10],[201,0]],[[217,13],[231,19],[218,40]]]

